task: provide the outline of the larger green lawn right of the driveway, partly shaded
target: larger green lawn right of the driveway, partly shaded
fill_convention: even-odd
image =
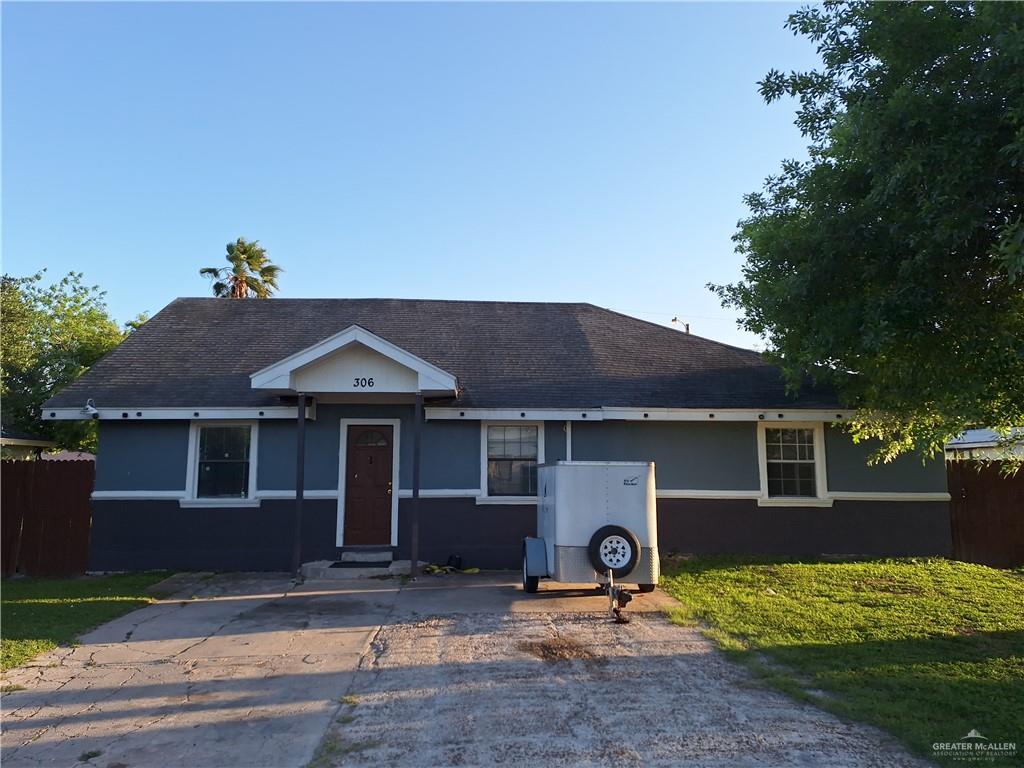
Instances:
[[[771,685],[932,758],[976,728],[1024,765],[1024,574],[942,559],[670,559],[663,588]],[[964,765],[963,760],[936,759]]]

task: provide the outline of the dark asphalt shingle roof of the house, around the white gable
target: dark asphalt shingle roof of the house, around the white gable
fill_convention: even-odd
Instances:
[[[249,375],[358,325],[454,374],[464,408],[835,408],[757,353],[592,304],[176,299],[47,408],[259,407]]]

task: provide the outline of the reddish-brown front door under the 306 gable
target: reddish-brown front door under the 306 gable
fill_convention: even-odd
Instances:
[[[345,453],[345,545],[391,544],[393,428],[349,426]]]

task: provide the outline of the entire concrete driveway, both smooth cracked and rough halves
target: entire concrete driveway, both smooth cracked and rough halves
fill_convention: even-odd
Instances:
[[[553,587],[553,586],[552,586]],[[543,587],[542,587],[543,589]],[[4,675],[8,766],[916,766],[759,687],[671,599],[508,575],[218,577]]]

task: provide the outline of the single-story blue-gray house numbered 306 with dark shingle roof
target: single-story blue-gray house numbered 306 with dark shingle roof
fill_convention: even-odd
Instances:
[[[656,462],[665,552],[950,551],[941,459],[868,467],[829,393],[590,304],[178,299],[44,409],[99,419],[95,569],[287,569],[297,488],[303,561],[408,558],[417,509],[422,559],[515,567],[568,459]]]

